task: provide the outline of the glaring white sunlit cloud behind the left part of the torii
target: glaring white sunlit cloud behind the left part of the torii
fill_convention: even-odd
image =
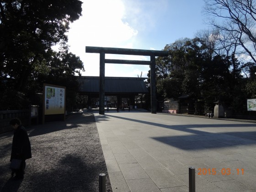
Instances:
[[[99,54],[85,53],[85,46],[133,48],[138,30],[123,19],[126,7],[122,0],[82,0],[83,11],[80,19],[70,24],[68,33],[70,52],[75,53],[84,63],[82,75],[99,75]],[[107,59],[148,60],[144,56],[106,55]],[[118,65],[118,66],[117,66]],[[145,77],[149,66],[106,64],[106,76],[137,77],[137,69],[144,70]],[[136,66],[136,67],[134,67]],[[108,69],[109,68],[109,69]],[[142,68],[142,69],[140,69]],[[131,70],[132,69],[132,70]]]

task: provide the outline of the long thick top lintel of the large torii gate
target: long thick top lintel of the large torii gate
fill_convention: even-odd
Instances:
[[[86,53],[106,53],[106,54],[123,54],[123,55],[143,55],[143,56],[168,56],[168,51],[156,51],[145,49],[130,48],[105,48],[105,47],[85,47]]]

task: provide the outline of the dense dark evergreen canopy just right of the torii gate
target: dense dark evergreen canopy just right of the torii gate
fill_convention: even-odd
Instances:
[[[156,59],[160,101],[189,95],[194,102],[208,110],[218,100],[229,107],[233,106],[237,97],[245,100],[240,93],[245,80],[238,60],[217,52],[213,54],[213,47],[208,47],[205,41],[198,37],[184,38],[165,46],[164,50],[169,52],[169,56]],[[235,68],[232,67],[233,63]],[[240,106],[236,104],[235,108]]]

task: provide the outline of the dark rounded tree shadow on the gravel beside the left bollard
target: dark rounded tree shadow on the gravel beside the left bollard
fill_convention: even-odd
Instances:
[[[56,165],[56,162],[51,161],[44,164],[45,171],[37,171],[29,175],[28,180],[33,181],[33,184],[27,186],[26,190],[29,192],[97,192],[99,173],[107,173],[106,165],[104,166],[105,160],[95,160],[91,156],[85,159],[79,155],[69,154]],[[110,183],[108,176],[106,182]],[[110,186],[107,187],[107,191],[111,191]]]

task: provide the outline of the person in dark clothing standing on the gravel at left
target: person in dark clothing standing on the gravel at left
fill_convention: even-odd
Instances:
[[[26,160],[32,158],[31,145],[27,135],[27,130],[21,125],[20,119],[11,119],[10,125],[12,128],[14,128],[10,161],[12,161],[13,159],[21,160],[20,168],[12,170],[12,177],[15,173],[16,176],[14,176],[13,179],[19,180],[23,179],[24,177]]]

